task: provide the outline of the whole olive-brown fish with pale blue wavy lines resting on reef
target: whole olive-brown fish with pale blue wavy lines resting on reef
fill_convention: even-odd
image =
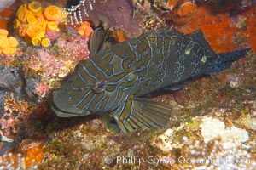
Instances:
[[[75,66],[55,92],[51,108],[60,117],[109,114],[124,133],[166,127],[175,119],[171,105],[146,94],[177,90],[195,77],[217,74],[250,50],[216,54],[201,30],[183,34],[173,27],[103,49],[99,39],[106,35],[106,31],[93,33],[90,58]]]

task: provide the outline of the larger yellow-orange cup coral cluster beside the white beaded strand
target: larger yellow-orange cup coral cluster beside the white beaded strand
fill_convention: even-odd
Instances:
[[[17,10],[14,28],[19,32],[20,37],[25,37],[26,42],[31,42],[34,46],[41,44],[43,47],[48,47],[49,40],[44,38],[46,32],[59,31],[58,24],[65,20],[66,15],[63,8],[55,5],[43,9],[41,3],[36,1],[24,3]]]

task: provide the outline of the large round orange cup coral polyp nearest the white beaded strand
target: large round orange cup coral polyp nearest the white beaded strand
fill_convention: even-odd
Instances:
[[[61,9],[55,5],[50,5],[44,9],[44,18],[49,21],[61,19]]]

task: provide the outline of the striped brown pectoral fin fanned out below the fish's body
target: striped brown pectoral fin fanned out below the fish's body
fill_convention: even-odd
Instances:
[[[128,99],[125,105],[111,113],[124,133],[138,128],[166,127],[172,106],[153,99]]]

